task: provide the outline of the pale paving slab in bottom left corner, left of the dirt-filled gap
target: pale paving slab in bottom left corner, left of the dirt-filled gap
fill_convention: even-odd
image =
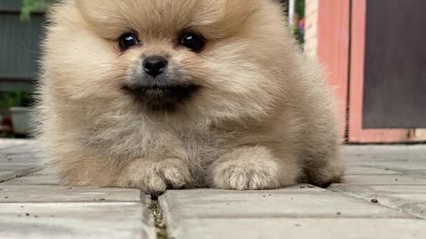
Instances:
[[[141,203],[0,204],[0,238],[154,239]]]

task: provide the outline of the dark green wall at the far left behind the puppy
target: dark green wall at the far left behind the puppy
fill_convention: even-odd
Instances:
[[[38,71],[43,15],[21,22],[20,5],[0,0],[0,91],[30,89]]]

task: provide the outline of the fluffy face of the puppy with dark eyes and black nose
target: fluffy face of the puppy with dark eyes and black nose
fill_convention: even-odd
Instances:
[[[86,106],[256,116],[285,89],[280,14],[270,0],[69,1],[51,16],[45,75]]]

